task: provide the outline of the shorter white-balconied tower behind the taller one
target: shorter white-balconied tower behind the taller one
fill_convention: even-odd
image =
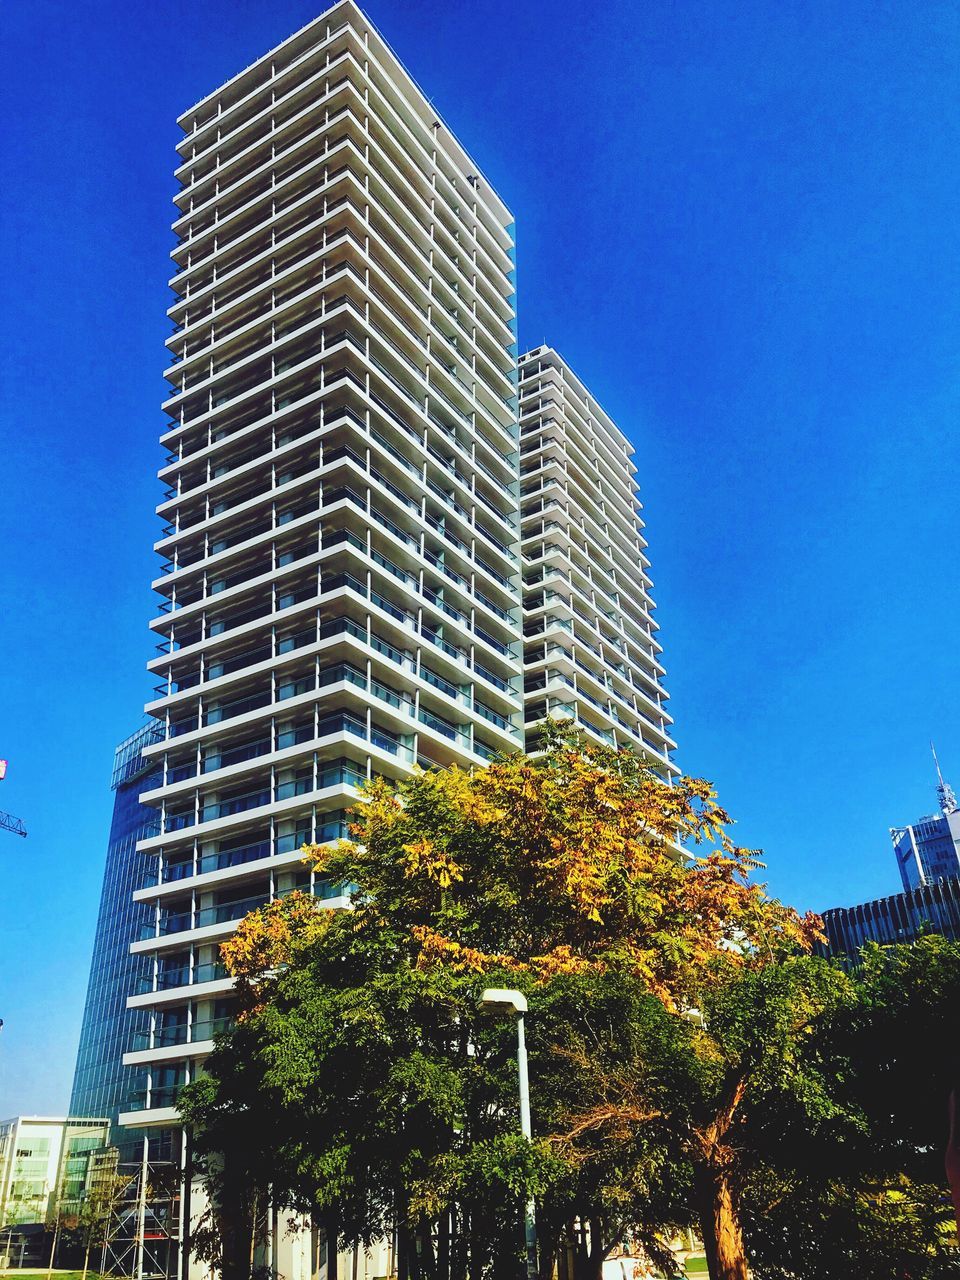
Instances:
[[[520,358],[520,425],[527,745],[571,718],[676,774],[634,448],[552,347]]]

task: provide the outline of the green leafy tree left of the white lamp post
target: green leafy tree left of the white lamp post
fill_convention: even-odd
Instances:
[[[274,925],[301,908],[278,905]],[[508,1268],[530,1153],[495,1111],[509,1087],[504,1029],[480,1025],[474,979],[419,972],[393,931],[349,923],[329,919],[269,998],[256,989],[187,1092],[220,1235],[241,1224],[250,1239],[250,1198],[269,1187],[324,1228],[332,1262],[337,1239],[369,1243],[397,1222],[401,1275],[451,1274],[465,1253],[493,1268],[504,1251]],[[243,1272],[239,1235],[221,1249],[225,1274]]]

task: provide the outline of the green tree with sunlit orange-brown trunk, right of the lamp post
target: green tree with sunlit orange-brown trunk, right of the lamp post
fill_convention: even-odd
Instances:
[[[577,1140],[590,1134],[613,1164],[636,1126],[654,1126],[675,1179],[686,1171],[684,1194],[710,1276],[740,1280],[751,1243],[746,1193],[763,1183],[771,1156],[792,1169],[797,1133],[806,1144],[810,1134],[828,1144],[860,1123],[842,1089],[842,1064],[819,1034],[852,988],[841,970],[803,954],[755,968],[723,957],[710,968],[695,1021],[648,996],[628,1053],[617,1059],[585,1046],[580,1074],[590,1088],[567,1125]],[[630,1212],[643,1222],[641,1204]]]

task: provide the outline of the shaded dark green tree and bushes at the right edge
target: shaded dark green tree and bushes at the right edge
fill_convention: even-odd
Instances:
[[[960,945],[870,945],[861,961],[804,1046],[828,1106],[813,1123],[782,1094],[767,1106],[744,1190],[758,1280],[960,1274],[943,1178]]]

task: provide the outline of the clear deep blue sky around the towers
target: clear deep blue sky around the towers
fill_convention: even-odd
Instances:
[[[147,681],[175,116],[316,0],[19,0],[0,118],[0,1115],[65,1106]],[[960,786],[960,10],[370,0],[637,448],[680,763],[800,906]]]

